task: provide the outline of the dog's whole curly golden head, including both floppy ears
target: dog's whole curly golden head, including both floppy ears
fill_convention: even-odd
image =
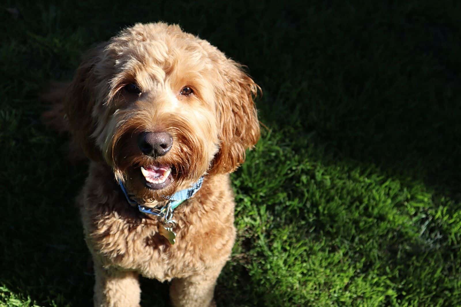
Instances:
[[[234,171],[259,139],[258,86],[207,41],[136,24],[87,55],[66,95],[71,130],[137,199]]]

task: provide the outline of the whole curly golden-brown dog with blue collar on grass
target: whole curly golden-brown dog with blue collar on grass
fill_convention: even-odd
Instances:
[[[259,91],[206,40],[138,23],[45,98],[63,100],[47,120],[89,158],[77,204],[95,306],[139,306],[139,275],[171,281],[173,306],[215,306],[236,237],[229,174],[260,138]]]

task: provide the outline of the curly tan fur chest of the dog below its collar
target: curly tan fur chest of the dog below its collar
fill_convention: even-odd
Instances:
[[[85,237],[93,256],[106,267],[164,281],[201,272],[210,263],[225,261],[231,252],[233,215],[222,220],[217,214],[203,219],[203,212],[187,219],[178,214],[176,242],[171,245],[160,235],[157,221],[140,217],[125,203],[92,200],[87,197],[81,207]]]

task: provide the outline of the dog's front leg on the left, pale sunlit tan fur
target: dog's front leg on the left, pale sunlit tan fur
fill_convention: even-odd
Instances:
[[[133,271],[105,269],[95,262],[95,307],[139,307],[141,288]]]

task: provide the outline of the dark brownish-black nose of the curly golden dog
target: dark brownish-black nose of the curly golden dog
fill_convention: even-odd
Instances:
[[[168,132],[141,132],[138,136],[138,147],[148,156],[163,156],[172,145],[173,138]]]

